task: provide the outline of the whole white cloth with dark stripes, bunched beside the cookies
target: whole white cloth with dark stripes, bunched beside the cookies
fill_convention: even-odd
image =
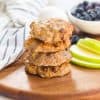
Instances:
[[[29,25],[31,21],[37,19],[39,10],[45,7],[46,1],[3,1],[4,6],[6,5],[6,11],[0,16],[0,70],[22,55],[24,41],[29,35],[29,26],[27,27],[26,23]]]

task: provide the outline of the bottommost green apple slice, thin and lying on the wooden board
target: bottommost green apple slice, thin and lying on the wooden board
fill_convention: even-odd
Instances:
[[[71,62],[73,64],[83,66],[83,67],[86,67],[86,68],[94,68],[94,69],[99,69],[100,68],[100,64],[82,61],[82,60],[79,60],[79,59],[74,58],[74,57],[72,58]]]

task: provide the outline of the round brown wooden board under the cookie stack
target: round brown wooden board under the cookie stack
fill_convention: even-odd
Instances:
[[[18,100],[100,100],[100,70],[71,65],[64,77],[43,79],[13,64],[0,72],[0,94]]]

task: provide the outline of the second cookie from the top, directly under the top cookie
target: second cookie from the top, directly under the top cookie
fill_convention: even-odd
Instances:
[[[61,41],[55,44],[49,44],[49,43],[43,43],[39,40],[36,40],[32,37],[30,37],[25,42],[25,48],[31,49],[34,52],[43,52],[43,53],[52,53],[52,52],[58,52],[65,50],[66,48],[69,48],[70,46],[70,39],[66,38],[66,41]]]

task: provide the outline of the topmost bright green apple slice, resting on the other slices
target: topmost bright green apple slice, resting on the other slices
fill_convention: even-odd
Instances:
[[[95,42],[89,42],[85,39],[80,39],[77,43],[77,46],[80,46],[96,54],[100,54],[100,45],[96,44]]]

